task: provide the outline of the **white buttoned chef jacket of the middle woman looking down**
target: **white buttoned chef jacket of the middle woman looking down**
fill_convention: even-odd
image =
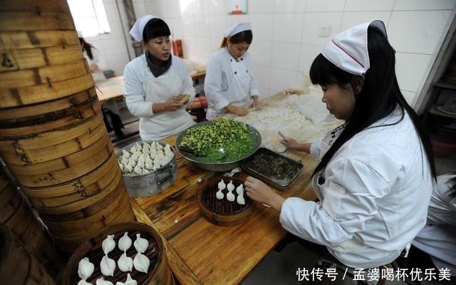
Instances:
[[[212,54],[206,66],[204,93],[208,102],[208,120],[227,113],[223,108],[230,103],[248,107],[252,103],[252,95],[259,95],[250,53],[235,59],[224,47]]]

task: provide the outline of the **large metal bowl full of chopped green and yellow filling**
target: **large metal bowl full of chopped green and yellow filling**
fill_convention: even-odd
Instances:
[[[259,149],[261,134],[251,125],[217,118],[192,125],[179,134],[176,149],[199,167],[225,172]]]

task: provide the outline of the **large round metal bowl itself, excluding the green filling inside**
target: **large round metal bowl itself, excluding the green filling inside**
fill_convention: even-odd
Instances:
[[[195,128],[199,125],[211,125],[212,120],[208,120],[202,123],[197,123],[196,125],[192,125],[190,128]],[[247,125],[247,124],[246,124]],[[182,138],[185,137],[187,134],[187,130],[190,130],[190,128],[187,128],[187,130],[182,131],[179,136],[177,136],[176,139],[176,150],[177,152],[180,153],[183,157],[187,158],[187,160],[190,160],[194,162],[196,165],[201,167],[202,169],[205,170],[210,170],[210,171],[215,171],[215,172],[225,172],[232,170],[234,167],[238,167],[240,165],[240,162],[250,155],[253,155],[254,152],[256,152],[259,149],[259,146],[261,145],[261,134],[259,131],[252,127],[251,125],[247,125],[249,130],[251,130],[250,138],[252,138],[253,142],[253,147],[252,150],[247,152],[245,155],[242,157],[239,157],[237,160],[231,160],[231,161],[226,161],[226,162],[219,162],[219,161],[213,161],[213,162],[205,162],[201,160],[201,157],[198,157],[197,155],[192,155],[189,152],[181,151],[180,150],[180,142],[182,141]]]

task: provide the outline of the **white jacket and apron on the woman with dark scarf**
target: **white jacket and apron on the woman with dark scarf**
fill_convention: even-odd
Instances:
[[[189,102],[195,98],[192,78],[182,59],[172,56],[170,69],[155,78],[142,54],[125,66],[123,76],[125,103],[130,113],[140,118],[142,140],[162,140],[195,124],[183,107],[174,112],[152,112],[153,103],[164,103],[175,95],[190,94]]]

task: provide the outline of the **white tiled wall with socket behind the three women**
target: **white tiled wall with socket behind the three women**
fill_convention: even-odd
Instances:
[[[261,95],[300,87],[314,57],[336,33],[381,19],[397,53],[400,88],[412,104],[447,33],[455,0],[248,0],[248,14],[228,15],[227,0],[133,0],[137,17],[154,14],[182,38],[185,58],[207,63],[222,33],[252,22],[250,52]],[[321,27],[329,37],[318,36]]]

